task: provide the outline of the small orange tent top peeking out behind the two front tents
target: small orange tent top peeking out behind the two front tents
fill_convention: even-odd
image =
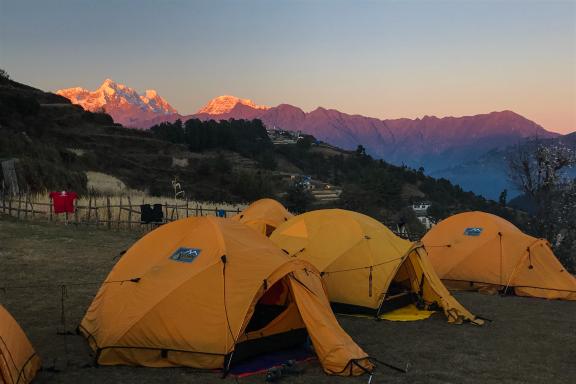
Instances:
[[[293,215],[282,204],[273,199],[260,199],[231,219],[246,224],[252,229],[270,236],[280,224]]]

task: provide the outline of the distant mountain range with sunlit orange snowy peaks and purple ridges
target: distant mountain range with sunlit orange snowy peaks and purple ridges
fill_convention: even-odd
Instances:
[[[145,95],[139,95],[134,89],[110,79],[94,92],[76,87],[57,93],[85,109],[103,109],[116,122],[133,128],[147,129],[163,121],[185,121],[190,118],[260,119],[268,128],[310,134],[344,149],[363,145],[376,158],[414,168],[423,167],[435,177],[450,180],[454,180],[454,175],[459,173],[459,165],[473,164],[490,151],[514,145],[529,137],[549,139],[560,136],[508,110],[463,117],[378,119],[323,107],[311,112],[290,104],[268,107],[257,105],[249,99],[225,95],[209,101],[195,114],[182,115],[157,92],[147,90]],[[504,164],[500,166],[503,169]],[[493,167],[477,171],[492,172]],[[501,183],[494,186],[471,188],[495,198],[501,190],[498,188],[506,184],[502,177],[498,179]],[[469,184],[465,183],[463,187],[467,188]]]

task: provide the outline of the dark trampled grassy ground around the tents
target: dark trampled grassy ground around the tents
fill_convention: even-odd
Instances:
[[[0,218],[0,303],[24,328],[45,368],[36,383],[222,383],[191,369],[94,367],[85,340],[73,331],[114,257],[140,235],[86,227],[22,223]],[[62,288],[64,319],[61,313]],[[370,355],[410,364],[407,374],[380,367],[372,383],[574,383],[576,302],[520,297],[456,295],[485,326],[450,325],[441,315],[398,323],[340,317],[342,326]],[[62,326],[65,322],[65,328]],[[322,373],[306,363],[302,375],[281,383],[365,383]],[[262,383],[263,375],[237,379]]]

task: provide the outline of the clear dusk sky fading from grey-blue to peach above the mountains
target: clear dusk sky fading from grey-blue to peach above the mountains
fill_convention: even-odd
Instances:
[[[0,67],[181,113],[232,94],[380,118],[510,109],[576,130],[576,0],[0,0]]]

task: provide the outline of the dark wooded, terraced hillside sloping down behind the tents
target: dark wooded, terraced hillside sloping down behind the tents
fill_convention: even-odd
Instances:
[[[156,195],[171,195],[171,180],[177,177],[194,199],[240,202],[272,196],[295,210],[343,207],[414,226],[407,206],[419,200],[432,202],[436,218],[470,209],[514,216],[445,179],[375,160],[363,147],[346,151],[318,145],[313,136],[274,145],[259,120],[190,119],[148,131],[126,129],[107,114],[13,81],[0,84],[0,102],[0,157],[19,159],[21,184],[31,190],[84,193],[85,172],[98,171]],[[306,176],[316,188],[342,192],[317,200],[299,182]]]

